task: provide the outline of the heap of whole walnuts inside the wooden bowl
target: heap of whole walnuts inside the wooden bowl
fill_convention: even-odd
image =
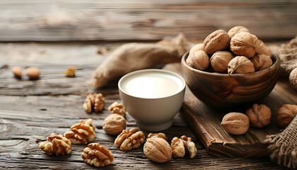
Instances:
[[[186,62],[194,69],[245,74],[271,67],[271,57],[272,51],[248,28],[235,26],[228,33],[216,30],[194,45]]]

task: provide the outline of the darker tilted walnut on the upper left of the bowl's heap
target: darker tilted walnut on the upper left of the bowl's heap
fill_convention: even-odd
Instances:
[[[204,39],[204,51],[208,55],[225,50],[230,45],[230,38],[225,30],[216,30]]]

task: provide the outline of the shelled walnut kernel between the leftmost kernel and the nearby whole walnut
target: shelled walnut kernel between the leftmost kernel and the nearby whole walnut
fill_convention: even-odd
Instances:
[[[64,136],[73,144],[86,144],[92,142],[95,138],[95,126],[91,123],[92,119],[80,120],[79,123],[71,126],[70,132],[65,132]]]

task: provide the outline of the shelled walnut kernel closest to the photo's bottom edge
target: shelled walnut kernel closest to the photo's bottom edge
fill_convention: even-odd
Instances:
[[[113,162],[112,152],[99,143],[91,143],[81,153],[83,161],[94,166],[107,166]]]

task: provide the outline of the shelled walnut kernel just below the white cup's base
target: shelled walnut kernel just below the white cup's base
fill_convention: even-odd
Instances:
[[[115,146],[122,150],[132,150],[140,147],[145,138],[144,132],[138,131],[136,128],[123,130],[115,139]]]

